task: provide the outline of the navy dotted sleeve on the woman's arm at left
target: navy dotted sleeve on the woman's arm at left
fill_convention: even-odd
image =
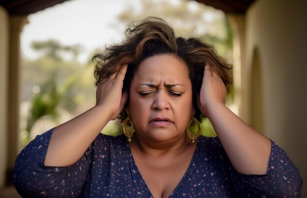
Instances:
[[[16,158],[13,183],[22,197],[79,197],[82,192],[92,161],[92,146],[71,166],[46,167],[52,131],[36,136]]]

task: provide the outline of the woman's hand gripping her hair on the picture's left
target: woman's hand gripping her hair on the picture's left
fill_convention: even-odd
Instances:
[[[118,73],[102,80],[97,87],[95,106],[104,106],[103,109],[105,113],[109,113],[110,120],[115,120],[118,117],[127,102],[128,93],[122,93],[126,72],[127,65]]]

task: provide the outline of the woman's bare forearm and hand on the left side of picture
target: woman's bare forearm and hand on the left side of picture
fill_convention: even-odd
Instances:
[[[103,127],[117,118],[127,101],[127,94],[122,94],[126,71],[127,66],[100,83],[93,108],[54,129],[45,166],[63,167],[74,164]]]

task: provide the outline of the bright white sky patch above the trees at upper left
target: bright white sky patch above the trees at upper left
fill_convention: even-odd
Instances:
[[[70,0],[29,15],[29,23],[21,34],[22,54],[37,58],[39,54],[31,49],[31,43],[55,39],[63,45],[83,45],[79,61],[86,61],[95,49],[123,38],[125,27],[113,25],[118,23],[117,16],[125,8],[125,1]]]

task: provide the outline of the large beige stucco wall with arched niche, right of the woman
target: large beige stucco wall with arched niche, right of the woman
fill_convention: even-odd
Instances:
[[[307,182],[306,8],[306,0],[254,2],[246,15],[244,67],[248,78],[242,82],[251,83],[253,54],[257,50],[257,64],[260,66],[259,71],[262,76],[263,132],[288,153],[305,182]],[[247,93],[251,94],[251,91]],[[249,99],[248,95],[243,97]],[[306,186],[306,184],[303,186],[302,197],[307,197]]]

